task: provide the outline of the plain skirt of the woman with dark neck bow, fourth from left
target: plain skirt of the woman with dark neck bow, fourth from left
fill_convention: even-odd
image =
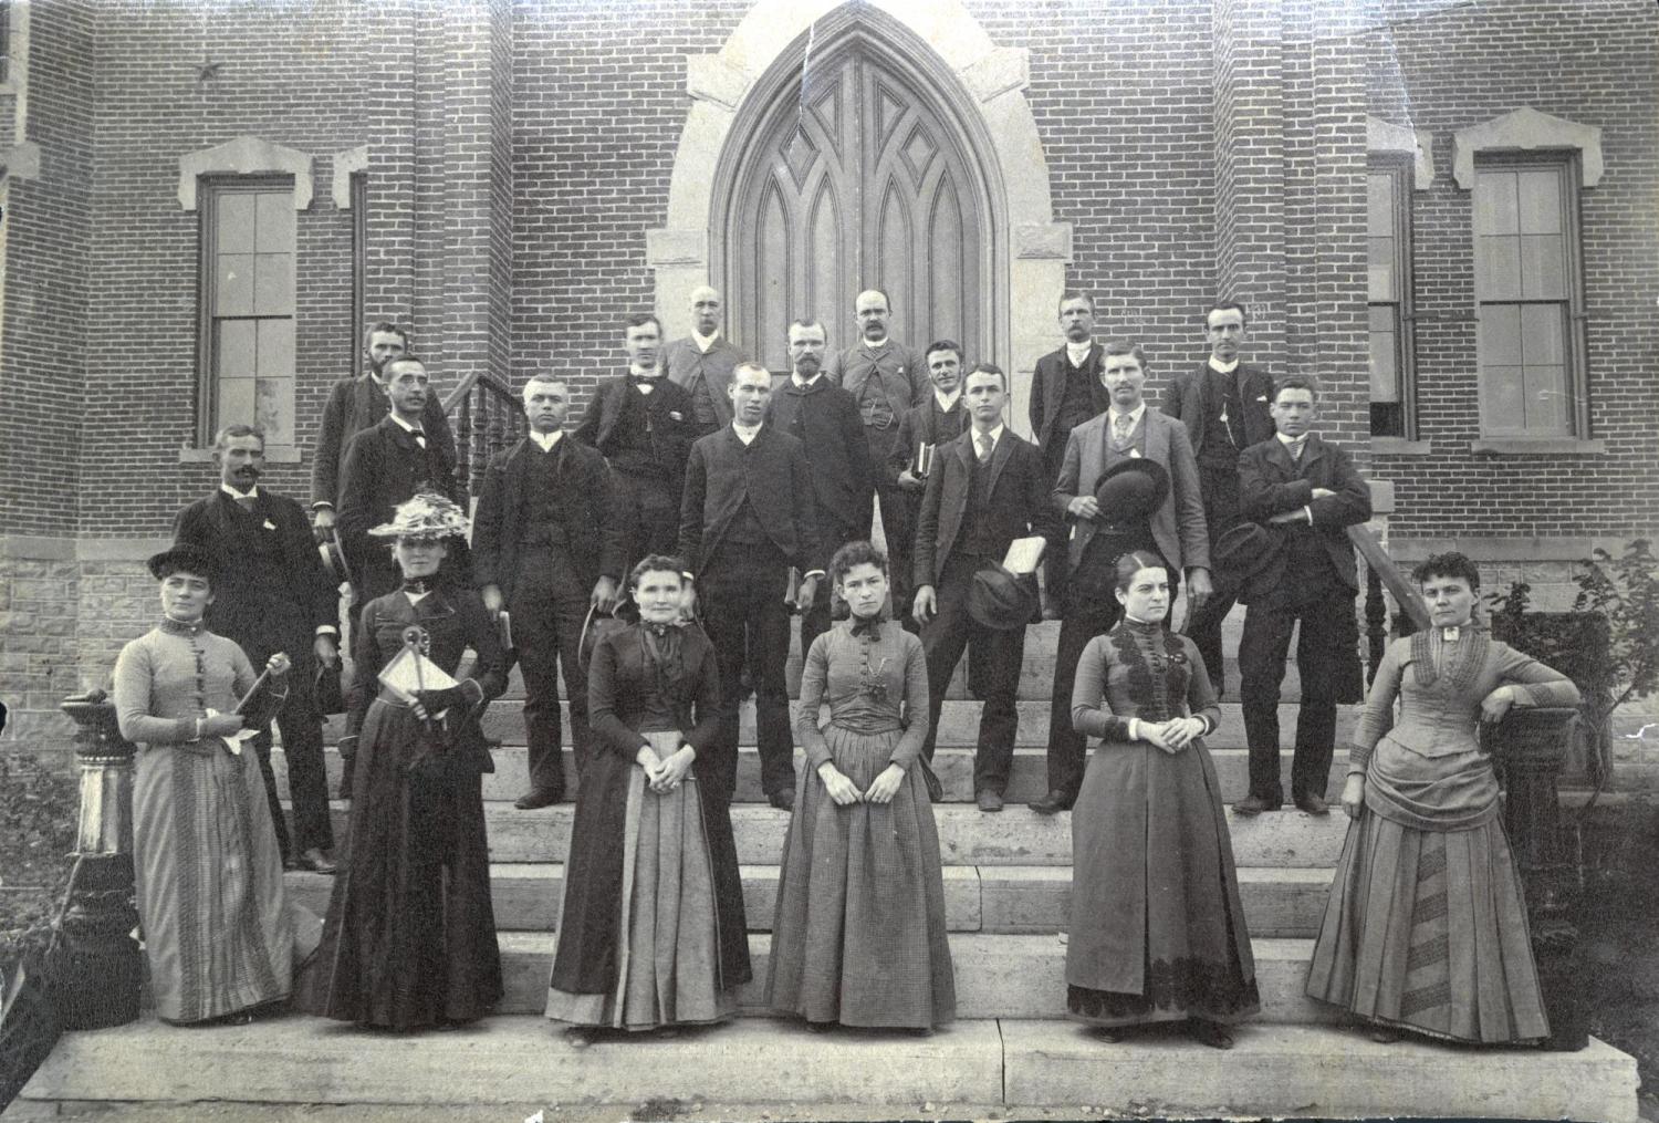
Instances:
[[[834,766],[861,791],[899,732],[825,730]],[[836,806],[801,773],[783,844],[766,1004],[808,1022],[931,1028],[956,1017],[939,831],[911,765],[891,803]]]

